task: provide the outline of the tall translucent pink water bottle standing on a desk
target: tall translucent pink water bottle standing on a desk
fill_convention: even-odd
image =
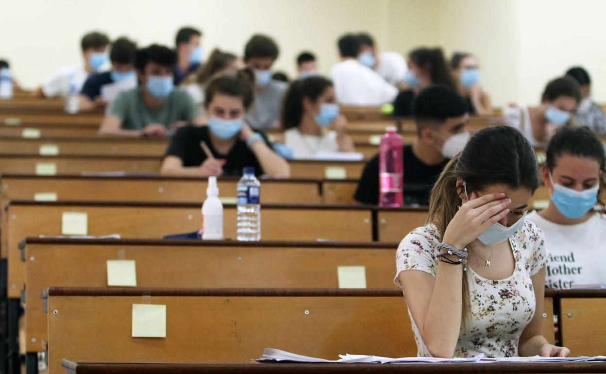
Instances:
[[[379,206],[400,207],[404,201],[404,144],[395,126],[388,126],[379,148]]]

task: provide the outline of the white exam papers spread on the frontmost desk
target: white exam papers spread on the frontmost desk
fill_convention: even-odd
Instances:
[[[504,358],[488,358],[483,354],[470,358],[437,358],[437,357],[402,357],[389,358],[381,356],[367,355],[339,355],[339,359],[330,360],[323,358],[315,358],[309,356],[297,355],[296,353],[286,352],[284,350],[265,348],[261,358],[254,361],[258,362],[332,362],[340,364],[430,364],[430,363],[454,363],[454,362],[590,362],[590,361],[606,361],[606,356],[578,356],[578,357],[504,357]]]

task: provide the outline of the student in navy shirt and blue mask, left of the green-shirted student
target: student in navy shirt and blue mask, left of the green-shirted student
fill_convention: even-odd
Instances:
[[[112,70],[103,73],[93,73],[82,87],[79,97],[79,110],[87,112],[95,109],[105,109],[107,100],[101,95],[101,87],[106,84],[120,82],[124,89],[137,85],[135,73],[135,54],[137,46],[127,38],[118,38],[112,43],[110,61]]]

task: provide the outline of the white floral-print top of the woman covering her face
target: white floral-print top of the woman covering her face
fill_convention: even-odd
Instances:
[[[402,287],[399,274],[405,270],[421,270],[436,276],[439,260],[436,249],[441,234],[435,226],[419,227],[408,234],[396,252],[395,283]],[[525,221],[509,238],[516,261],[511,276],[498,281],[485,279],[467,267],[471,316],[465,329],[461,327],[454,357],[471,357],[484,353],[487,357],[518,356],[518,342],[522,331],[534,316],[536,299],[531,276],[542,269],[547,261],[545,238],[533,222]],[[454,290],[453,290],[454,292]],[[408,310],[413,327],[418,356],[431,353]]]

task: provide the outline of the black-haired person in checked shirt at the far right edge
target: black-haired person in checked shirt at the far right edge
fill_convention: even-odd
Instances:
[[[587,70],[580,66],[572,67],[566,76],[573,78],[581,88],[581,102],[574,113],[574,121],[599,135],[606,135],[606,115],[602,107],[591,98],[591,78]]]

